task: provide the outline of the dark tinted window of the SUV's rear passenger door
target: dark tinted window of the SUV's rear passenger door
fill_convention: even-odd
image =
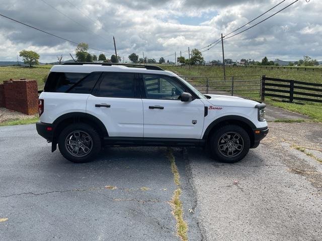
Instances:
[[[135,74],[131,73],[103,73],[94,95],[104,97],[136,97]]]

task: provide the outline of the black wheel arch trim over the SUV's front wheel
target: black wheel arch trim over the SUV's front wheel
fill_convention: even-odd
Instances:
[[[202,139],[208,140],[208,138],[216,131],[216,129],[223,125],[237,125],[242,127],[249,135],[251,140],[251,147],[254,145],[254,131],[253,129],[256,128],[255,124],[251,122],[249,119],[239,116],[239,115],[225,115],[215,119],[206,129],[205,133],[203,134]]]

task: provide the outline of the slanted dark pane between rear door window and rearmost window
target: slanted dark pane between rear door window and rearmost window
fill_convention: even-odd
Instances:
[[[90,94],[102,72],[93,72],[67,90],[68,93]]]

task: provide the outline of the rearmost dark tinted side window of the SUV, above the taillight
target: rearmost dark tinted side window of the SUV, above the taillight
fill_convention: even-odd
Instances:
[[[45,83],[45,92],[66,92],[72,85],[83,79],[88,73],[50,72]]]

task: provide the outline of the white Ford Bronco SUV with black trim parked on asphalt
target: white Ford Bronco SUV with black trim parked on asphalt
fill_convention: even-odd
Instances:
[[[55,65],[39,96],[37,132],[75,163],[103,146],[207,147],[215,160],[243,159],[267,135],[265,104],[201,94],[158,66]]]

